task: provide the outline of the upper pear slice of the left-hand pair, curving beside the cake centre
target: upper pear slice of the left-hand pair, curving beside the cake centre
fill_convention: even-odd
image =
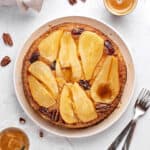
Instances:
[[[28,71],[46,85],[54,98],[58,96],[58,86],[50,67],[42,61],[36,61],[30,65]]]

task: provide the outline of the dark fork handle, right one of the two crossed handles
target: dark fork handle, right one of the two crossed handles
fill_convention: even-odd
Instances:
[[[129,150],[131,140],[132,140],[132,137],[133,137],[133,134],[134,134],[134,131],[135,131],[135,127],[136,127],[136,122],[137,122],[137,120],[133,121],[133,124],[131,125],[129,133],[128,133],[126,139],[125,139],[122,150]]]

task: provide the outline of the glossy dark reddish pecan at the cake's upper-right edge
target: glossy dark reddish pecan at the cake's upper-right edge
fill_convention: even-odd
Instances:
[[[108,55],[113,55],[114,54],[115,50],[113,48],[112,43],[109,40],[105,40],[104,46],[105,46],[106,54],[108,54]]]

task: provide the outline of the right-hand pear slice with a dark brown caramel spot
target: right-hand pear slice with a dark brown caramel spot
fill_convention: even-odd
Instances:
[[[112,103],[119,90],[118,60],[114,56],[109,56],[93,82],[91,97],[95,102]]]

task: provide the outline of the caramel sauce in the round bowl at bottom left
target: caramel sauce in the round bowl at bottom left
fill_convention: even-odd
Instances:
[[[0,133],[0,150],[28,150],[27,136],[17,128],[8,128]]]

